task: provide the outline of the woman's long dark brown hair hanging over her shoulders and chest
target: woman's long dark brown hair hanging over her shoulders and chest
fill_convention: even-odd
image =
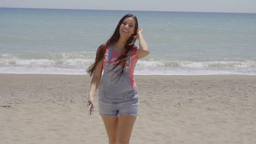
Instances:
[[[87,73],[90,74],[90,76],[94,75],[95,73],[95,68],[96,68],[96,65],[98,64],[98,62],[100,62],[102,59],[103,59],[103,56],[106,52],[106,49],[107,47],[112,44],[112,43],[115,43],[119,40],[119,37],[120,37],[120,33],[119,33],[119,28],[121,26],[121,24],[123,23],[123,21],[126,19],[126,17],[132,17],[133,20],[135,20],[135,29],[134,29],[134,34],[131,35],[131,37],[126,41],[126,44],[125,44],[125,53],[123,55],[121,55],[118,59],[117,59],[117,62],[116,62],[116,65],[113,67],[113,69],[117,68],[117,66],[120,64],[120,63],[123,63],[123,67],[121,68],[121,73],[118,75],[119,76],[119,79],[121,77],[121,75],[123,74],[123,71],[124,71],[124,68],[125,68],[125,64],[126,64],[126,61],[127,59],[131,56],[131,53],[132,53],[132,48],[133,48],[133,45],[136,41],[135,39],[135,36],[136,36],[136,31],[138,29],[138,20],[137,20],[137,17],[135,15],[132,15],[132,14],[127,14],[125,15],[119,22],[118,22],[118,25],[117,25],[117,28],[115,28],[115,31],[112,35],[112,37],[110,37],[109,40],[106,41],[106,43],[102,44],[100,47],[98,47],[98,50],[96,52],[96,58],[95,58],[95,62],[94,64],[92,64],[88,69],[87,69]],[[112,69],[112,70],[113,70]],[[119,69],[120,70],[120,69]],[[117,70],[118,71],[118,70]],[[117,77],[116,77],[117,78]]]

